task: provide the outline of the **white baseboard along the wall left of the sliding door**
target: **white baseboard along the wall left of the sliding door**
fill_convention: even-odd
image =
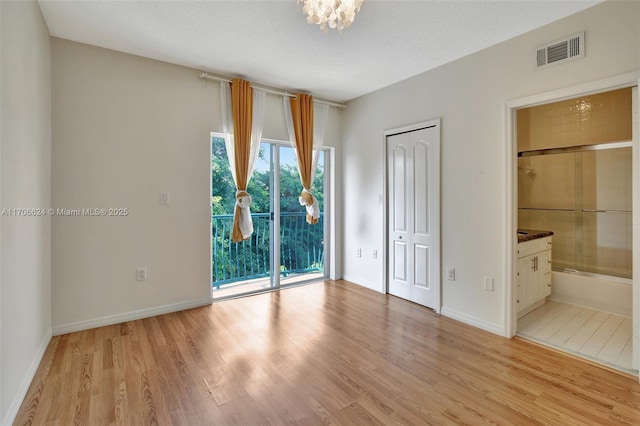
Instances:
[[[140,309],[137,311],[125,312],[116,315],[107,315],[100,318],[94,318],[86,321],[71,322],[53,326],[53,335],[73,333],[75,331],[89,330],[96,327],[104,327],[105,325],[119,324],[121,322],[135,321],[142,318],[154,317],[156,315],[169,314],[172,312],[184,311],[186,309],[199,308],[201,306],[211,305],[213,299],[190,300],[187,302],[172,303],[169,305],[155,306],[153,308]]]

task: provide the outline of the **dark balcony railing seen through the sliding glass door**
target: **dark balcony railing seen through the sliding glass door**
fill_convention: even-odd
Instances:
[[[255,213],[251,238],[231,242],[233,215],[211,216],[212,273],[216,288],[271,274],[269,213]],[[280,274],[324,271],[324,215],[316,225],[306,222],[306,212],[280,214]]]

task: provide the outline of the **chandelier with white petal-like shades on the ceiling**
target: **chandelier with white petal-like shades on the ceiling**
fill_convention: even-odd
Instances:
[[[298,0],[304,3],[302,13],[307,15],[307,22],[320,26],[327,31],[329,28],[337,28],[342,31],[349,28],[360,11],[364,0]]]

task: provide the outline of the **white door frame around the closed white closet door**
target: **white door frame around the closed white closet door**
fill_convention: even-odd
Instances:
[[[383,285],[382,292],[385,294],[389,293],[389,189],[388,189],[388,173],[387,173],[387,137],[398,134],[398,133],[406,133],[412,132],[415,130],[419,130],[425,127],[436,125],[438,127],[438,131],[440,132],[439,139],[440,145],[442,144],[442,120],[440,118],[433,118],[430,120],[425,120],[419,123],[409,124],[400,127],[394,127],[390,129],[386,129],[382,132],[382,194],[379,195],[378,201],[384,204],[384,208],[382,209],[382,222],[384,228],[383,235],[383,243],[382,243],[382,276],[383,276]],[[435,247],[437,248],[436,253],[436,264],[438,265],[436,270],[436,286],[434,288],[436,305],[434,307],[434,312],[439,314],[442,309],[442,223],[440,221],[440,195],[441,195],[441,186],[440,186],[440,165],[442,164],[441,153],[438,151],[438,173],[436,174],[436,186],[438,188],[437,197],[435,197],[436,208],[436,229],[438,230],[437,235],[435,236]]]

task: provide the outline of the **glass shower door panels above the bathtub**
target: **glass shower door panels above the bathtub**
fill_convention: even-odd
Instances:
[[[632,277],[630,147],[518,158],[518,227],[551,230],[553,267]]]

